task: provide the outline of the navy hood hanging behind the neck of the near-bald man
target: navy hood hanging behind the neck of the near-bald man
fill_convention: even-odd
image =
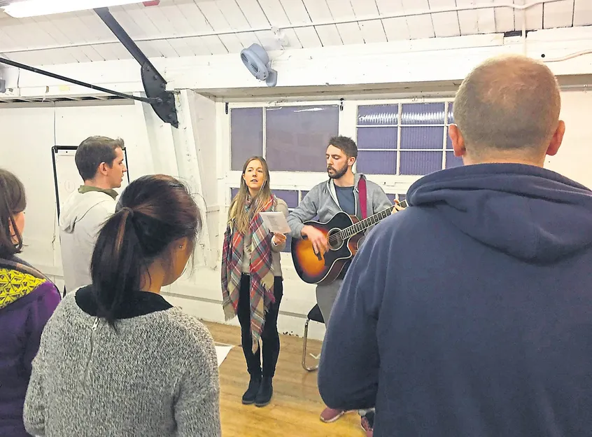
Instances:
[[[550,263],[592,245],[592,192],[521,164],[446,169],[416,181],[410,206],[430,207],[461,232],[523,261]]]

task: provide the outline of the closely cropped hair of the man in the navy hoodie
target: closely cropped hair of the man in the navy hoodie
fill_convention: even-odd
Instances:
[[[494,57],[465,78],[454,99],[454,122],[468,153],[537,153],[558,126],[561,95],[549,67],[529,57]]]

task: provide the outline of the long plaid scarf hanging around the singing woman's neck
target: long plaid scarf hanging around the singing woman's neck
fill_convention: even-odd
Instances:
[[[277,200],[274,195],[269,199],[261,211],[275,211]],[[251,204],[246,204],[248,210]],[[232,228],[231,228],[232,226]],[[263,225],[259,214],[254,214],[249,223],[248,233],[251,234],[251,336],[253,337],[253,352],[259,348],[259,339],[265,325],[265,314],[269,305],[275,302],[274,272],[272,269],[272,234]],[[242,260],[244,252],[244,237],[230,223],[224,234],[222,252],[222,296],[223,309],[226,320],[237,315],[239,305],[239,289],[241,286]]]

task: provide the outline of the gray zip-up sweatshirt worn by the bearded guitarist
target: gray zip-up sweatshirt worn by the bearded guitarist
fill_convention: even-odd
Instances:
[[[356,216],[360,216],[360,190],[358,183],[364,176],[361,173],[354,175],[353,194],[355,197],[355,212]],[[365,177],[365,176],[364,176]],[[366,179],[366,195],[367,195],[367,213],[369,216],[383,211],[388,207],[393,207],[393,202],[388,200],[386,194],[376,183]],[[333,179],[318,183],[314,186],[296,209],[288,215],[288,225],[290,225],[290,235],[294,238],[302,238],[301,232],[304,221],[309,221],[318,216],[321,223],[330,221],[332,217],[341,211],[339,201],[337,200],[337,193],[335,193],[335,184]]]

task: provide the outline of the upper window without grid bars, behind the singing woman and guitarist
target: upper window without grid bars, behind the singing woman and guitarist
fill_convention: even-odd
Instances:
[[[262,155],[270,171],[325,172],[325,148],[337,134],[337,105],[232,109],[231,169],[241,170],[247,158]]]

